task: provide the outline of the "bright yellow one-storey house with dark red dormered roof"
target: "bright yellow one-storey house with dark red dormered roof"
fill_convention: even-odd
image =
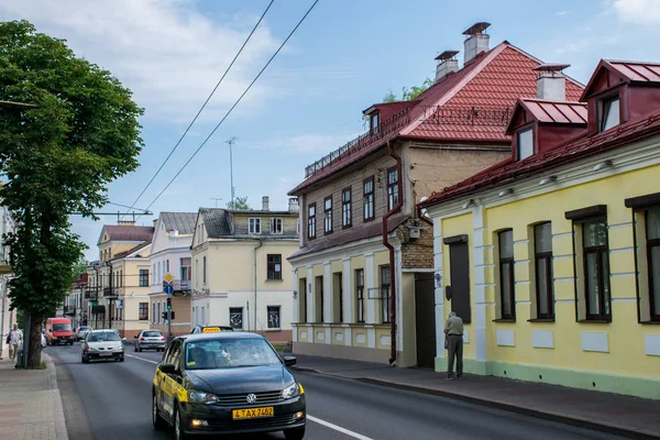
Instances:
[[[581,102],[519,100],[513,156],[420,204],[438,372],[454,310],[466,373],[660,398],[659,98],[659,65],[603,61]]]

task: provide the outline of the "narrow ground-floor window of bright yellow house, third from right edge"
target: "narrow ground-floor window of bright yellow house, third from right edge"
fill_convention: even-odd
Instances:
[[[552,224],[534,227],[537,318],[554,318],[554,287],[552,282]]]

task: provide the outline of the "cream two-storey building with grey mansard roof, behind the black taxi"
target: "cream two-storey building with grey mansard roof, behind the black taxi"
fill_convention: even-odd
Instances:
[[[193,238],[193,324],[231,326],[292,340],[296,205],[273,211],[201,208]]]

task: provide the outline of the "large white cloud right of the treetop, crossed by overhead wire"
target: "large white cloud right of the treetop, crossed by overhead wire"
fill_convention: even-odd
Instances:
[[[177,122],[193,118],[258,19],[241,13],[213,22],[194,0],[21,0],[2,2],[0,16],[66,38],[79,56],[131,88],[147,117]],[[262,21],[202,118],[223,113],[277,43]],[[244,103],[263,106],[272,95],[257,85]]]

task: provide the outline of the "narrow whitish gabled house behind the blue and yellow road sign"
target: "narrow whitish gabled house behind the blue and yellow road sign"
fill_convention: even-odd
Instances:
[[[167,295],[164,293],[164,276],[174,276],[173,295],[170,297],[174,318],[172,333],[174,336],[189,333],[191,320],[193,292],[193,258],[190,245],[197,212],[161,212],[154,222],[154,240],[151,253],[151,328],[168,331],[167,320],[163,317],[166,311]]]

